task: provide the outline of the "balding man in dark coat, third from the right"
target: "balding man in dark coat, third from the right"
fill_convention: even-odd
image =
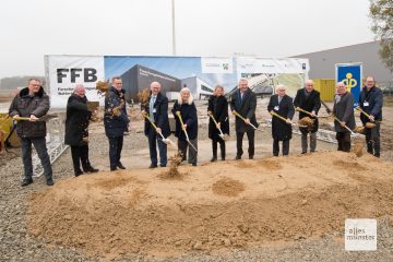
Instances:
[[[309,117],[313,120],[313,123],[310,127],[299,129],[301,132],[301,154],[307,153],[308,133],[310,133],[310,153],[312,153],[317,148],[318,118],[315,116],[321,108],[320,93],[314,90],[312,80],[307,80],[305,83],[305,88],[297,91],[294,105],[295,107],[299,107],[306,111],[311,112],[310,116],[306,112],[299,111],[299,119]]]

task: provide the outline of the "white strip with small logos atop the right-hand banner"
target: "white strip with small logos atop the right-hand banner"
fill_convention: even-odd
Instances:
[[[237,58],[237,72],[241,73],[303,73],[308,74],[310,70],[309,60],[301,58],[252,58],[252,57],[238,57]]]

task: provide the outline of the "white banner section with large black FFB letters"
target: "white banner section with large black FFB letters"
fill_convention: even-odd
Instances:
[[[46,56],[45,59],[51,107],[66,108],[76,84],[84,85],[88,100],[103,104],[104,98],[97,94],[95,85],[98,80],[105,80],[104,57]]]

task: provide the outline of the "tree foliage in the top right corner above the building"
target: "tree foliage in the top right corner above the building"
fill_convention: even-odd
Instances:
[[[370,0],[371,29],[380,40],[379,55],[393,72],[393,0]]]

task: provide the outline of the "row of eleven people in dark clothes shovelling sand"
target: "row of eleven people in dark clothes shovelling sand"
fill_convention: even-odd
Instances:
[[[144,134],[147,136],[151,165],[156,168],[158,165],[167,165],[167,144],[166,139],[170,135],[168,119],[168,98],[162,94],[158,82],[151,83],[151,95],[147,102],[141,105],[142,114],[145,116]],[[360,120],[365,126],[367,151],[374,156],[380,156],[380,124],[382,120],[383,97],[380,88],[376,87],[374,79],[368,76],[365,87],[361,90],[359,106],[364,112]],[[19,121],[16,133],[22,142],[22,159],[24,165],[24,178],[22,187],[33,182],[32,165],[32,144],[37,151],[38,157],[44,167],[47,184],[52,186],[52,169],[46,147],[46,124],[39,121],[49,110],[49,97],[44,92],[39,80],[32,79],[28,86],[23,88],[13,99],[9,116],[27,117],[29,121]],[[209,138],[212,140],[212,162],[218,159],[218,144],[221,148],[221,159],[226,159],[226,145],[223,134],[229,135],[228,107],[235,116],[236,131],[236,157],[241,159],[243,155],[242,140],[245,133],[248,138],[248,156],[253,159],[254,133],[259,123],[255,118],[257,97],[249,88],[248,81],[241,79],[238,90],[230,96],[229,103],[224,96],[224,87],[216,85],[214,95],[209,99],[207,115]],[[319,128],[318,112],[321,108],[320,93],[314,90],[311,80],[306,81],[305,87],[298,90],[295,99],[286,95],[285,86],[277,85],[275,95],[272,95],[267,105],[267,111],[272,117],[272,138],[273,155],[279,154],[279,142],[282,142],[282,154],[289,154],[289,141],[293,133],[293,117],[295,109],[299,110],[299,119],[310,117],[313,123],[309,127],[299,128],[301,131],[301,152],[310,153],[317,148],[317,131]],[[350,150],[350,131],[355,129],[354,97],[347,91],[344,83],[336,84],[334,107],[327,112],[335,117],[335,131],[338,142],[338,151],[348,152]],[[176,119],[175,136],[178,138],[178,148],[182,160],[196,166],[198,163],[198,114],[189,88],[180,91],[178,99],[175,102],[171,112]],[[87,107],[87,98],[83,85],[76,85],[73,94],[67,104],[66,120],[66,144],[71,146],[74,175],[83,172],[96,172],[88,159],[88,121],[92,117],[92,109]],[[372,122],[372,128],[366,127],[367,122]],[[130,120],[126,110],[124,90],[120,76],[111,79],[105,98],[104,126],[105,133],[109,140],[109,162],[110,170],[126,167],[120,162],[123,146],[123,136],[129,131]],[[309,136],[309,140],[308,140]],[[308,143],[309,142],[309,143]],[[158,154],[159,160],[158,160]],[[187,154],[188,151],[188,154]],[[81,169],[82,164],[82,169]]]

